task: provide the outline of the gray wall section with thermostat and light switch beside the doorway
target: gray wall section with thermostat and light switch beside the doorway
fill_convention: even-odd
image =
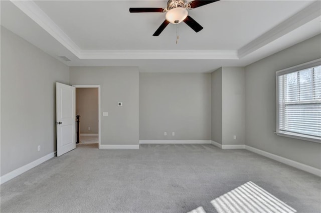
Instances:
[[[100,85],[101,144],[138,144],[138,67],[70,67],[73,85]],[[117,106],[123,102],[123,106]],[[103,116],[102,112],[109,112]]]

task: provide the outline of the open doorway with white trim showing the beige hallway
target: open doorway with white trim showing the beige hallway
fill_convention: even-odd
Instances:
[[[73,86],[76,87],[76,115],[80,115],[78,144],[98,144],[100,148],[100,85]]]

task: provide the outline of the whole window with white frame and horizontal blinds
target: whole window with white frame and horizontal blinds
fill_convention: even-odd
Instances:
[[[321,142],[321,59],[276,72],[276,133]]]

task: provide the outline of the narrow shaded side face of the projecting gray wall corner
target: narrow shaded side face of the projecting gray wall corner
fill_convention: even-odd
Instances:
[[[212,80],[212,140],[222,144],[222,67],[213,71]]]

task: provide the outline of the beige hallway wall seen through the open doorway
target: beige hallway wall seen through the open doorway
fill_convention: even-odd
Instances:
[[[98,134],[98,88],[76,88],[76,114],[80,133]]]

